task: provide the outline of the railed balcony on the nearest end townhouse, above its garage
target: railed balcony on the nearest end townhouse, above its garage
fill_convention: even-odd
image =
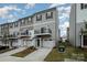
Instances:
[[[36,36],[51,36],[52,31],[50,29],[41,29],[40,31],[34,31]]]

